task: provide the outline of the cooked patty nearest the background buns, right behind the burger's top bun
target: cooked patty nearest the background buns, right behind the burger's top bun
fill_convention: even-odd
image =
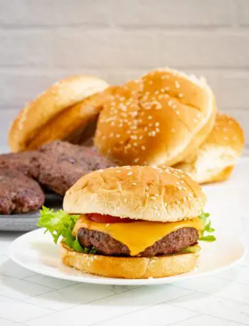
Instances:
[[[83,175],[115,166],[95,148],[73,145],[65,141],[53,141],[39,149],[38,181],[55,193],[65,192]]]

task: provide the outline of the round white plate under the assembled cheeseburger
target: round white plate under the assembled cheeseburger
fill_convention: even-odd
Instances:
[[[240,240],[226,235],[219,236],[214,243],[201,242],[200,244],[201,258],[194,271],[171,277],[142,280],[89,275],[63,265],[60,262],[58,246],[53,243],[51,235],[43,234],[42,229],[26,233],[14,240],[9,256],[23,268],[64,280],[108,285],[155,285],[176,282],[227,268],[243,258],[246,251],[245,245]]]

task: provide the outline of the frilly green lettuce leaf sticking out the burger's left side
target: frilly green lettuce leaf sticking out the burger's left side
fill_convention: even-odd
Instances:
[[[42,207],[40,210],[40,218],[37,225],[40,228],[45,228],[44,233],[51,233],[54,243],[58,243],[60,237],[63,237],[63,242],[78,253],[96,253],[95,248],[83,248],[78,238],[73,235],[73,227],[80,215],[69,215],[64,210]]]

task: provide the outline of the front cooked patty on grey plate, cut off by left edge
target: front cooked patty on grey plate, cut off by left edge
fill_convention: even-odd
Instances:
[[[0,214],[26,213],[41,208],[40,185],[17,170],[0,168]]]

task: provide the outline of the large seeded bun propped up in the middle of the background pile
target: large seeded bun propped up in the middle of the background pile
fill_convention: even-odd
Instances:
[[[169,68],[113,88],[95,146],[120,165],[173,165],[211,132],[216,103],[206,81]]]

